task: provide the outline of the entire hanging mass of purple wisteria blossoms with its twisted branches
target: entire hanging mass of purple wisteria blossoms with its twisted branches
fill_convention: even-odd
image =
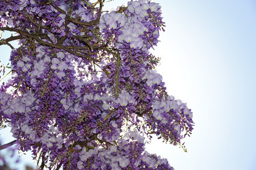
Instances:
[[[103,13],[103,2],[0,1],[1,30],[20,39],[0,120],[41,169],[173,169],[145,151],[152,134],[183,146],[194,125],[149,53],[161,6],[131,1]]]

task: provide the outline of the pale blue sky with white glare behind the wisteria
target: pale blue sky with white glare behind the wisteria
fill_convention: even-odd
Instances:
[[[162,58],[157,70],[169,95],[194,112],[195,129],[184,139],[187,153],[161,141],[148,151],[177,170],[256,169],[256,1],[154,2],[166,22],[152,51]],[[1,60],[9,57],[0,51]]]

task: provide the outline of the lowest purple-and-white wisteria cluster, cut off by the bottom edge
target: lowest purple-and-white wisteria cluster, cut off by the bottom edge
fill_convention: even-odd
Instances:
[[[116,146],[89,151],[83,147],[79,158],[78,169],[86,169],[88,160],[94,169],[173,169],[166,159],[146,152],[144,138],[134,131],[118,139]]]

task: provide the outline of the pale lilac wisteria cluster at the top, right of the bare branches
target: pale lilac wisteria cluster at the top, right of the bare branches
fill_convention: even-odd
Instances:
[[[148,50],[158,42],[161,21],[161,7],[157,3],[131,1],[124,13],[112,11],[102,16],[100,31],[112,39],[116,48]]]

